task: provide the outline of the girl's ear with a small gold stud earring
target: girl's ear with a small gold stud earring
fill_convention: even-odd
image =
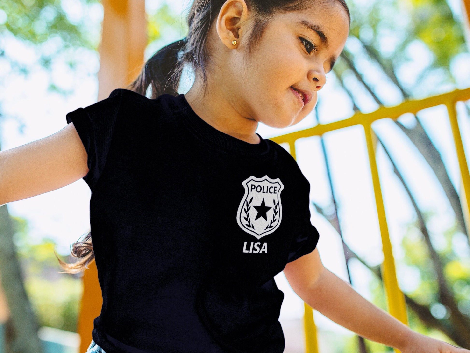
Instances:
[[[239,43],[242,40],[248,18],[248,7],[244,0],[227,0],[222,5],[216,20],[216,31],[227,48],[236,48],[237,45],[233,45],[232,41]]]

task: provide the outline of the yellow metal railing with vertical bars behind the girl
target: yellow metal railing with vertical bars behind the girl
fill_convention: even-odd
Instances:
[[[450,126],[452,129],[452,135],[454,137],[455,151],[457,153],[457,159],[460,167],[461,174],[461,203],[462,211],[464,213],[467,233],[470,232],[470,176],[467,159],[462,144],[462,136],[460,134],[457,112],[455,104],[457,101],[463,101],[470,99],[470,88],[456,89],[452,92],[444,93],[438,96],[431,96],[420,100],[407,100],[403,103],[393,107],[380,107],[375,112],[370,113],[355,113],[351,118],[345,120],[339,120],[328,124],[319,124],[313,128],[307,128],[305,130],[292,132],[282,136],[276,136],[271,138],[277,144],[287,143],[290,147],[290,154],[296,159],[296,148],[295,142],[304,137],[321,136],[326,132],[339,130],[342,128],[348,128],[354,125],[362,125],[364,128],[365,139],[368,149],[368,157],[370,163],[370,172],[372,176],[372,184],[374,187],[374,193],[376,198],[377,216],[380,226],[380,235],[382,238],[382,250],[384,252],[384,262],[382,263],[381,270],[384,277],[384,287],[387,297],[387,308],[389,313],[397,318],[399,321],[408,325],[405,297],[401,292],[397,275],[395,271],[395,261],[392,253],[392,243],[388,233],[387,220],[385,217],[384,201],[382,199],[382,191],[380,189],[380,181],[376,163],[376,143],[377,138],[371,125],[374,121],[390,118],[393,120],[398,119],[405,113],[416,114],[420,110],[434,107],[437,105],[445,104],[447,112],[449,114]],[[316,327],[313,321],[313,309],[307,303],[304,303],[304,329],[305,329],[305,346],[306,353],[318,353],[318,343]],[[395,349],[395,352],[399,352]]]

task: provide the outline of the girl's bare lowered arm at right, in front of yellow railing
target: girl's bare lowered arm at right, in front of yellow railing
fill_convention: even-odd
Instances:
[[[470,353],[421,335],[361,297],[352,286],[326,269],[318,250],[284,268],[292,289],[305,303],[339,325],[402,353]]]

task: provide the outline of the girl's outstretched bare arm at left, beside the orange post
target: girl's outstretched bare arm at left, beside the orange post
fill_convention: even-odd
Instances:
[[[85,146],[71,122],[53,135],[0,152],[0,205],[59,189],[87,172]]]

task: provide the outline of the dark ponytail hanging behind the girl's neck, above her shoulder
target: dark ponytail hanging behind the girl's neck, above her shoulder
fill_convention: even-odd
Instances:
[[[180,52],[186,46],[186,37],[158,50],[145,63],[139,76],[126,88],[145,96],[149,86],[151,99],[162,94],[178,95],[183,62]]]

